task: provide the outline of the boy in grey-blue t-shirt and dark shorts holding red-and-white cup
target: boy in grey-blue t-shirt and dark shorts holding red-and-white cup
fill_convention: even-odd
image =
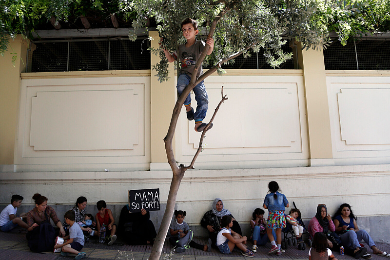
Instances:
[[[85,258],[86,253],[79,252],[84,246],[84,234],[78,223],[75,222],[75,212],[73,210],[68,210],[65,213],[65,222],[70,225],[69,236],[64,237],[64,240],[69,239],[63,244],[56,244],[55,249],[62,247],[61,256],[67,256],[69,254],[76,254],[76,260]]]

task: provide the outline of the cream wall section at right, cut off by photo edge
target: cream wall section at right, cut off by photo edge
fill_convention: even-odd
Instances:
[[[390,71],[328,71],[327,88],[336,163],[390,163]]]

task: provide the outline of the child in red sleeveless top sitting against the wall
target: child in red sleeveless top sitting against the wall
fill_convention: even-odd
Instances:
[[[98,228],[98,236],[100,236],[100,228],[104,224],[108,230],[111,230],[110,237],[108,237],[108,245],[112,245],[117,240],[117,225],[114,224],[114,216],[111,209],[107,209],[107,204],[104,200],[99,200],[96,203],[96,207],[98,208],[98,213],[95,216],[96,225]]]

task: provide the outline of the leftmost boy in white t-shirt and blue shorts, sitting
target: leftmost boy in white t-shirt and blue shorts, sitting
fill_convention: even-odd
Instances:
[[[23,222],[23,216],[26,213],[20,214],[19,217],[16,216],[16,211],[21,205],[21,201],[23,197],[20,195],[12,195],[11,204],[6,206],[0,214],[0,230],[2,232],[9,232],[17,226],[21,226],[22,228],[28,228],[27,223]]]

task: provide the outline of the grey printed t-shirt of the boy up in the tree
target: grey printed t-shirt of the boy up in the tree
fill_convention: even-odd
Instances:
[[[196,40],[195,43],[188,48],[186,47],[185,44],[179,45],[178,47],[179,54],[177,55],[175,51],[174,58],[175,60],[177,60],[177,57],[179,58],[180,73],[185,73],[189,76],[192,75],[196,65],[196,60],[199,59],[199,56],[205,45],[206,43],[203,40]],[[196,77],[199,77],[202,74],[203,74],[203,69],[202,69],[202,65],[200,65]]]

